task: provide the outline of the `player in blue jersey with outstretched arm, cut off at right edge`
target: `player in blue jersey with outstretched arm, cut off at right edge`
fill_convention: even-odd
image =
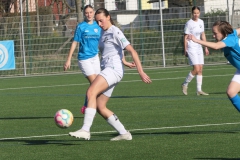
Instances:
[[[234,107],[240,112],[240,28],[233,29],[226,21],[217,21],[212,27],[213,37],[218,41],[205,42],[188,35],[188,39],[213,49],[222,49],[227,60],[237,69],[227,88],[227,95]]]

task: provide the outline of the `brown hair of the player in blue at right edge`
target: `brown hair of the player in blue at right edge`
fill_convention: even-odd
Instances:
[[[218,27],[218,31],[223,35],[223,37],[233,33],[233,28],[227,21],[217,21],[213,24],[213,27],[214,26]]]

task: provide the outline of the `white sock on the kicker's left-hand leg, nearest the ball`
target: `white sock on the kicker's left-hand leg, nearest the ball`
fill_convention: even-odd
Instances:
[[[86,108],[85,109],[84,121],[83,121],[83,126],[82,126],[83,130],[90,132],[90,128],[92,126],[95,114],[96,114],[96,109],[94,109],[94,108]]]

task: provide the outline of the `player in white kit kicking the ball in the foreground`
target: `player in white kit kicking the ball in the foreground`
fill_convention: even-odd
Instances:
[[[113,25],[109,12],[104,8],[98,9],[95,13],[95,20],[103,29],[99,41],[102,71],[87,90],[88,105],[85,110],[83,126],[76,132],[69,132],[69,135],[89,140],[90,128],[96,111],[98,111],[119,133],[111,141],[132,140],[131,133],[125,129],[118,117],[106,107],[114,87],[120,82],[124,74],[123,49],[126,49],[131,54],[142,81],[151,83],[151,79],[143,71],[137,52],[130,45],[122,31]]]

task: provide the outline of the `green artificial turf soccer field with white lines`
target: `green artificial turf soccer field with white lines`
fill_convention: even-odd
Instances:
[[[133,136],[118,142],[109,141],[117,133],[98,114],[89,141],[68,136],[83,122],[83,75],[0,78],[0,159],[240,159],[240,115],[225,93],[235,69],[204,66],[202,88],[210,95],[197,96],[193,79],[184,96],[190,70],[146,69],[152,84],[127,70],[108,103]],[[74,115],[67,129],[54,124],[62,108]]]

